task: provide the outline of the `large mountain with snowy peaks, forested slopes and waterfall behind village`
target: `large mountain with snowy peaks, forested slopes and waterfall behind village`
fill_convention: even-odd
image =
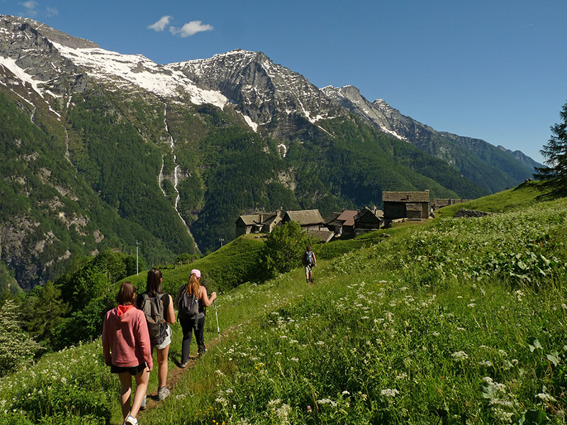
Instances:
[[[476,198],[503,184],[376,128],[261,52],[160,65],[0,16],[0,94],[18,123],[0,126],[0,280],[26,288],[101,249],[138,244],[150,264],[216,249],[252,210],[326,215],[380,206],[383,190]]]

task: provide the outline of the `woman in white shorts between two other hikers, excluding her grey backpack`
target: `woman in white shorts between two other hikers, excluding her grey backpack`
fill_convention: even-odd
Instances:
[[[172,328],[169,324],[175,323],[175,310],[173,308],[172,295],[164,293],[162,290],[162,272],[157,268],[152,268],[147,272],[146,292],[138,295],[136,305],[142,308],[142,301],[144,295],[147,297],[158,297],[163,302],[163,316],[166,321],[165,338],[159,344],[152,342],[152,349],[155,348],[157,352],[157,399],[162,401],[169,395],[167,388],[167,358],[169,356],[169,344],[172,343]],[[144,400],[145,401],[145,400]],[[145,403],[142,404],[145,407]]]

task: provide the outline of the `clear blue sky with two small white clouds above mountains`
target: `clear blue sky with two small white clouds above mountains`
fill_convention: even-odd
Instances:
[[[567,102],[565,0],[0,0],[0,14],[161,64],[262,51],[318,87],[352,84],[539,162]]]

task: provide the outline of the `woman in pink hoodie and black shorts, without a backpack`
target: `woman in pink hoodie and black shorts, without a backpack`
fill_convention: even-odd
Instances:
[[[124,282],[116,295],[118,307],[109,310],[102,327],[102,350],[106,365],[120,379],[120,403],[124,424],[137,425],[137,412],[146,395],[147,381],[154,367],[150,335],[142,310],[134,307],[136,290]],[[134,402],[130,409],[132,376],[136,379]]]

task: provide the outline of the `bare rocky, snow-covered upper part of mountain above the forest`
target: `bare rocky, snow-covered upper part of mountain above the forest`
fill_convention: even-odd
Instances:
[[[285,128],[283,123],[293,122],[297,114],[315,123],[339,113],[305,77],[274,64],[262,52],[234,50],[210,59],[160,65],[142,55],[104,50],[27,18],[0,18],[0,65],[42,97],[79,93],[84,84],[64,81],[88,77],[113,91],[141,89],[172,101],[185,98],[221,109],[231,104],[254,131],[269,125],[274,116]]]

